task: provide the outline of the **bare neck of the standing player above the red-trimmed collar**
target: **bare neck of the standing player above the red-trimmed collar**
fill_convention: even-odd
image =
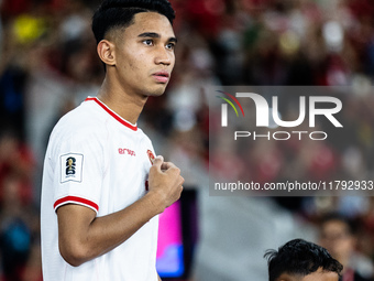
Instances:
[[[147,97],[129,95],[121,88],[116,88],[111,85],[106,78],[101,85],[98,98],[127,121],[136,123]]]

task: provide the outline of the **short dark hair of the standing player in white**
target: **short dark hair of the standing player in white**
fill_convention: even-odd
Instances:
[[[140,12],[157,12],[165,15],[170,24],[175,12],[168,0],[105,0],[92,18],[92,32],[97,43],[114,28],[127,28]]]

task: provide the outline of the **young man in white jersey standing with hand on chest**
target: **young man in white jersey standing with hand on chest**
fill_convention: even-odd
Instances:
[[[177,201],[180,171],[154,158],[136,121],[174,67],[167,0],[105,0],[92,31],[106,78],[54,128],[42,187],[44,281],[156,281],[157,215]]]

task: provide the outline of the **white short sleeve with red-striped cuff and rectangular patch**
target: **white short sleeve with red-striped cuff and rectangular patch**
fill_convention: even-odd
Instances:
[[[56,140],[51,154],[54,163],[54,209],[78,204],[99,210],[105,153],[102,136],[89,130],[66,134]]]

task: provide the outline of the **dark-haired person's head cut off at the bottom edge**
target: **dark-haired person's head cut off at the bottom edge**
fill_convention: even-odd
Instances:
[[[316,244],[294,239],[267,250],[270,281],[338,281],[342,264]]]

